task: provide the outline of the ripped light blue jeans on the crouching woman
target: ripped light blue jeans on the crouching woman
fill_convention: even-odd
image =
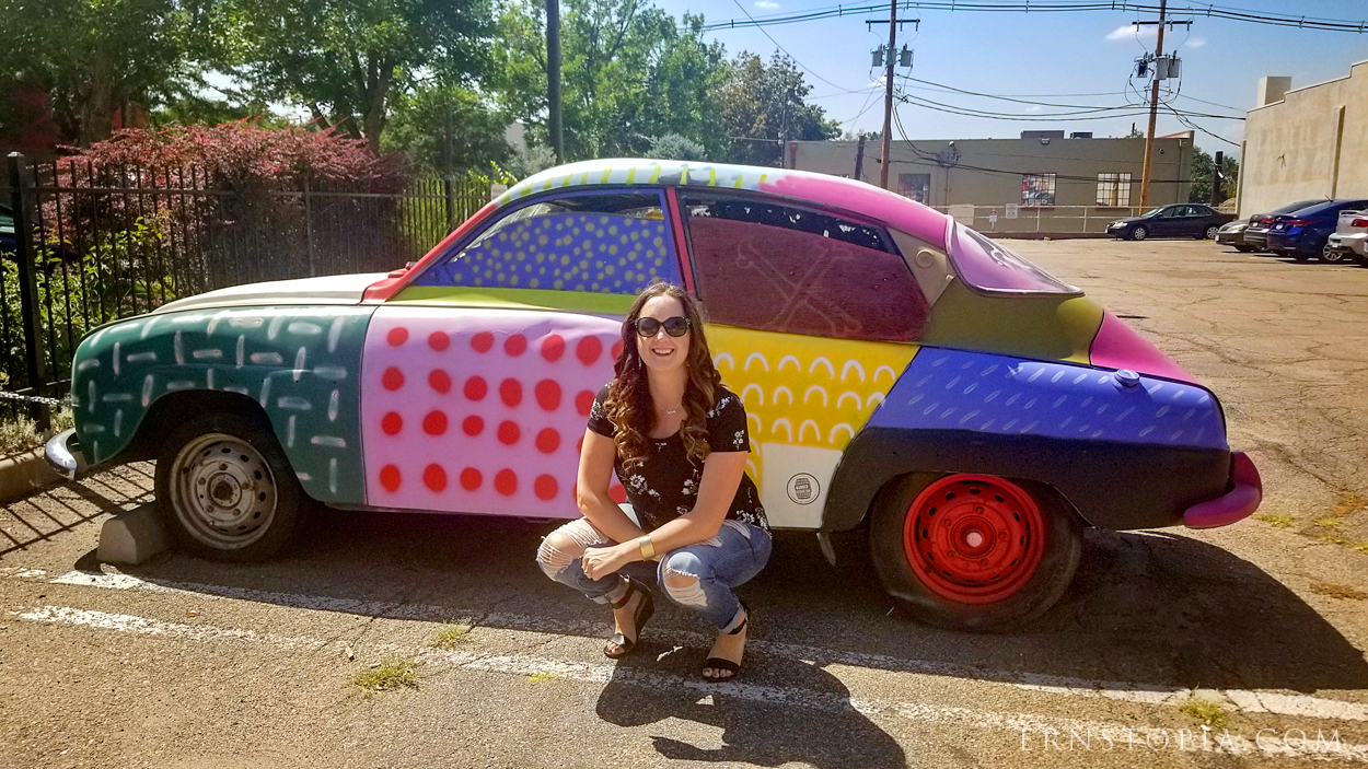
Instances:
[[[584,576],[581,557],[590,547],[613,545],[588,519],[570,521],[542,540],[536,562],[546,576],[568,584],[598,603],[621,584],[618,575],[592,580]],[[655,568],[661,591],[674,603],[695,610],[718,631],[741,621],[741,605],[733,588],[758,575],[770,557],[767,531],[735,520],[722,521],[717,536],[665,553]],[[636,572],[629,564],[622,572]]]

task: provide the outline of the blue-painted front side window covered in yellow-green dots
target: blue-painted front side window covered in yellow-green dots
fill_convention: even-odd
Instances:
[[[420,275],[416,286],[636,294],[680,282],[658,192],[546,198],[516,208]]]

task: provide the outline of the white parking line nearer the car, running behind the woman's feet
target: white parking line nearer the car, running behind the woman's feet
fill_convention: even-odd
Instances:
[[[146,590],[190,592],[198,597],[218,597],[235,601],[252,601],[312,609],[320,612],[343,612],[395,620],[445,621],[450,617],[472,617],[477,624],[557,635],[595,636],[602,634],[602,623],[566,621],[528,614],[488,613],[477,609],[451,606],[430,606],[423,603],[395,603],[387,601],[356,601],[350,598],[328,598],[290,592],[269,592],[261,590],[224,587],[218,584],[197,584],[185,582],[150,583],[129,575],[105,575],[90,572],[70,572],[51,580],[53,584],[98,587],[108,590]],[[673,638],[694,646],[707,646],[710,638],[694,632],[673,632]],[[650,636],[650,631],[647,631]],[[1119,681],[1088,680],[1068,676],[1022,673],[1015,670],[993,670],[955,665],[906,660],[882,654],[860,654],[792,643],[751,640],[751,649],[785,657],[808,660],[821,665],[848,665],[903,673],[919,673],[974,680],[984,684],[1003,684],[1018,690],[1055,694],[1063,696],[1099,696],[1140,705],[1179,705],[1193,695],[1192,690],[1181,687],[1127,684]],[[1222,695],[1245,713],[1268,713],[1274,716],[1294,716],[1301,718],[1328,718],[1338,721],[1368,721],[1368,705],[1326,699],[1311,695],[1290,695],[1257,690],[1219,690]]]

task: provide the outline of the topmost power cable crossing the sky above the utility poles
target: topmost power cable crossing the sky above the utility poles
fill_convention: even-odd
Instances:
[[[741,7],[740,3],[737,3],[737,7]],[[741,12],[746,14],[746,21],[731,19],[725,22],[713,22],[709,25],[703,25],[700,29],[702,31],[717,31],[722,29],[789,25],[789,23],[829,19],[845,15],[867,14],[870,11],[878,11],[882,8],[884,8],[882,3],[871,3],[863,5],[834,5],[834,7],[817,8],[803,14],[773,15],[757,19],[751,16],[744,7],[741,7]],[[978,1],[978,3],[966,3],[962,0],[937,0],[937,1],[903,0],[903,3],[899,4],[899,10],[1019,12],[1019,14],[1120,11],[1129,14],[1155,14],[1159,11],[1159,7],[1152,3],[1127,3],[1120,0],[1116,1],[1004,0],[1004,1]],[[1252,11],[1248,8],[1235,8],[1227,5],[1186,5],[1182,8],[1174,8],[1174,14],[1189,18],[1205,16],[1213,19],[1226,19],[1226,21],[1283,26],[1283,27],[1298,27],[1298,29],[1309,29],[1319,31],[1352,31],[1360,34],[1368,33],[1368,22],[1364,21],[1328,19],[1319,16],[1297,16],[1287,14],[1267,14],[1263,11]]]

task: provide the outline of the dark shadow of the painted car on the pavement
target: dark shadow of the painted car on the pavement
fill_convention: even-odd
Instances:
[[[282,603],[290,595],[393,602],[383,612],[391,617],[406,616],[404,605],[497,612],[486,624],[517,616],[517,629],[594,635],[602,625],[606,636],[606,612],[534,562],[554,525],[328,513],[274,562],[171,554],[129,571],[153,583],[283,594],[265,598]],[[810,534],[778,532],[770,565],[741,592],[763,620],[752,639],[803,647],[803,658],[818,664],[1160,691],[1368,688],[1363,653],[1315,609],[1253,564],[1178,534],[1090,531],[1068,594],[1012,635],[956,634],[903,617],[869,569],[828,566]],[[662,606],[644,638],[672,631],[706,628]]]

